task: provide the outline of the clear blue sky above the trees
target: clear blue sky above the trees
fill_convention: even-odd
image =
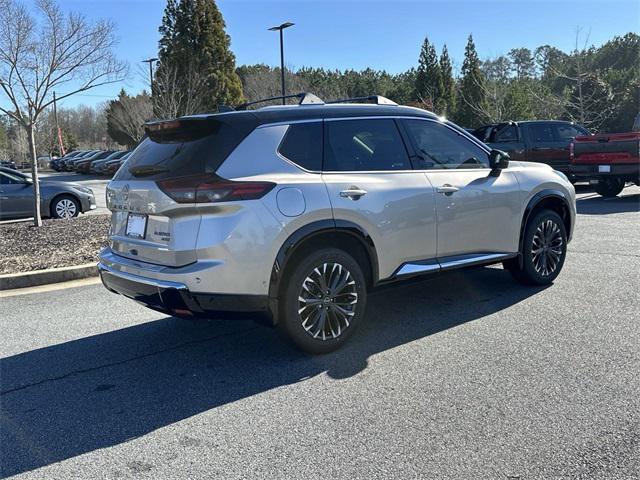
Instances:
[[[29,2],[30,0],[26,0]],[[96,105],[120,88],[137,93],[148,88],[141,61],[157,55],[158,27],[165,0],[59,0],[63,9],[89,18],[109,18],[116,26],[117,54],[130,64],[124,82],[69,98],[64,106]],[[601,45],[615,35],[640,32],[639,0],[422,0],[422,1],[217,1],[241,64],[279,65],[277,32],[285,21],[285,63],[338,69],[384,69],[391,73],[417,65],[425,36],[440,52],[447,45],[460,68],[467,36],[473,34],[481,58],[511,48],[549,44],[565,51],[588,35]],[[372,92],[375,93],[375,92]]]

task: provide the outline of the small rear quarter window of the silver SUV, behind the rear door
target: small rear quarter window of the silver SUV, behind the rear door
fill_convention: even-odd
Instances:
[[[306,170],[322,170],[322,122],[291,125],[278,151]]]

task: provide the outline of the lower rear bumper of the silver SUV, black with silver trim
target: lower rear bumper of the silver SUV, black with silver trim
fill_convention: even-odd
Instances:
[[[98,263],[107,290],[148,308],[179,317],[251,318],[273,323],[268,297],[191,292],[180,282],[159,280],[119,271]]]

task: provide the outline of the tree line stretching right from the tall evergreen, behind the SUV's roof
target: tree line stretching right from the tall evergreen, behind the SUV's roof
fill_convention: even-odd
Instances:
[[[279,68],[242,65],[237,73],[248,100],[279,95]],[[569,53],[549,45],[514,48],[481,60],[469,35],[457,77],[447,46],[438,55],[428,38],[417,66],[400,74],[310,67],[285,73],[291,92],[310,91],[324,100],[383,95],[469,128],[561,119],[593,131],[628,131],[640,106],[640,36],[628,33]]]

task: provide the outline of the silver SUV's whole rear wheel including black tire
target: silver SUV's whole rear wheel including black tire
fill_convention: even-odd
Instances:
[[[294,266],[285,282],[279,327],[301,350],[332,352],[362,322],[366,281],[348,253],[335,248],[313,252]]]

